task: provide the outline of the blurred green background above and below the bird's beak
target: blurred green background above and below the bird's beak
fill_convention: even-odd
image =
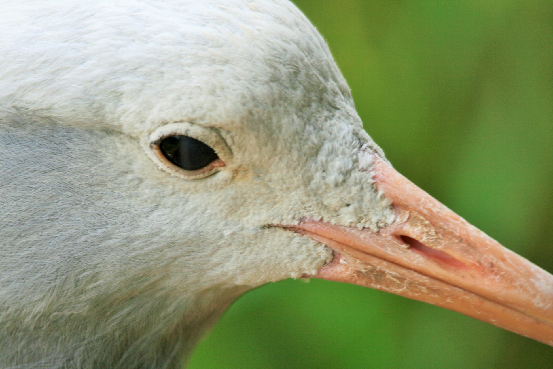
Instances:
[[[553,272],[553,2],[298,0],[394,166]],[[236,302],[190,369],[553,368],[553,347],[354,285]]]

